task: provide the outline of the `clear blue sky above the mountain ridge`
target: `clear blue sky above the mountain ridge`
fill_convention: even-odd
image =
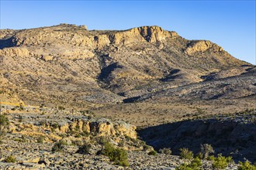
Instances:
[[[209,39],[238,59],[255,64],[255,0],[0,1],[1,29],[59,23],[88,29],[161,26],[185,39]]]

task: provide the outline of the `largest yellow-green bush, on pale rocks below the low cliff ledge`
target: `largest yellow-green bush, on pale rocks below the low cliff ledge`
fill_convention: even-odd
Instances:
[[[123,149],[114,148],[109,142],[106,142],[100,154],[109,157],[110,161],[116,165],[129,166],[127,153]]]

